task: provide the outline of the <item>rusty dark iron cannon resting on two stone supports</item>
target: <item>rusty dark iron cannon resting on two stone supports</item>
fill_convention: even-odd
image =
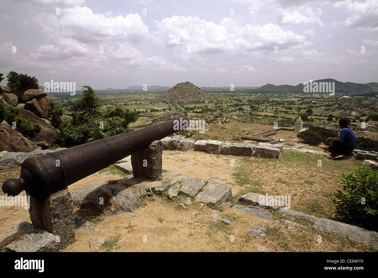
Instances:
[[[27,158],[21,165],[20,178],[6,180],[2,186],[3,192],[8,196],[17,196],[25,190],[28,195],[43,200],[51,193],[149,146],[155,140],[185,129],[182,125],[178,129],[177,121],[182,123],[188,120],[180,116],[144,129]]]

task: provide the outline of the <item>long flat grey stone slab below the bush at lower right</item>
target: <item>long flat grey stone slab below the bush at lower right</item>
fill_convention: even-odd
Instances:
[[[372,246],[378,245],[378,233],[375,231],[369,231],[364,228],[359,228],[323,217],[319,218],[312,227],[336,236],[348,236],[355,241],[366,242]]]

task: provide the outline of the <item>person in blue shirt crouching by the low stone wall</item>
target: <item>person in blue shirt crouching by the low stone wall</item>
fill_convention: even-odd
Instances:
[[[344,159],[344,154],[352,152],[356,147],[356,139],[352,129],[348,127],[347,120],[339,120],[341,127],[340,135],[338,138],[328,138],[327,143],[332,142],[332,146],[328,149],[332,154],[334,160]]]

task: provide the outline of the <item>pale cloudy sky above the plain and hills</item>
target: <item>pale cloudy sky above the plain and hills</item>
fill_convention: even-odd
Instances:
[[[377,61],[378,0],[0,2],[0,72],[40,85],[367,83]]]

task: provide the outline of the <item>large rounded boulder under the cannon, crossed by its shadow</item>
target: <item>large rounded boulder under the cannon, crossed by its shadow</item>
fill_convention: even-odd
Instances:
[[[147,192],[131,179],[105,179],[82,186],[71,193],[73,203],[107,216],[134,212]],[[102,198],[102,199],[101,199]]]

